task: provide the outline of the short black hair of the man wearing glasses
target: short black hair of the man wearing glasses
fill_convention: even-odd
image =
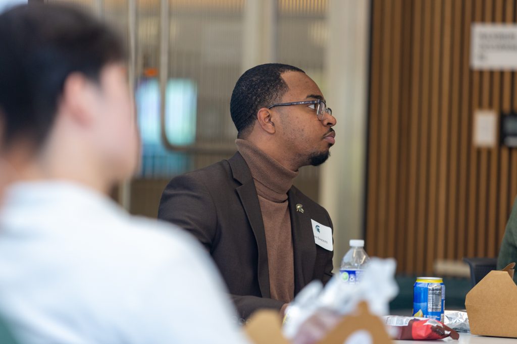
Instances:
[[[232,92],[230,113],[239,132],[246,136],[256,120],[258,110],[279,102],[289,89],[281,74],[301,69],[283,64],[265,64],[248,69],[239,77]]]

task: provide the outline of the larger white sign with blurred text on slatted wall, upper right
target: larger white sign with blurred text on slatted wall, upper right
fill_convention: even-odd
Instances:
[[[474,23],[470,38],[470,67],[517,70],[517,25]]]

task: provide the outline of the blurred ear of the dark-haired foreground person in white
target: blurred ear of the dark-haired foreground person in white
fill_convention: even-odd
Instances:
[[[59,112],[81,126],[93,120],[95,86],[82,73],[71,73],[63,86],[63,94],[59,100]]]

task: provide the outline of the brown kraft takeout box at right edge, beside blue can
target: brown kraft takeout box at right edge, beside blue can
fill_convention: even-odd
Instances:
[[[470,333],[482,336],[517,338],[517,285],[509,264],[491,271],[465,298]]]

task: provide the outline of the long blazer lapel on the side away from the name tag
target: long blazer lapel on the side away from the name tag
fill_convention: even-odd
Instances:
[[[266,246],[266,233],[264,231],[264,221],[262,219],[262,211],[260,208],[260,202],[258,202],[258,196],[255,188],[255,183],[251,177],[251,172],[246,164],[246,161],[240,153],[235,155],[228,160],[232,168],[234,179],[239,181],[242,185],[236,188],[237,194],[239,195],[242,207],[248,216],[251,229],[255,236],[258,251],[258,286],[263,298],[270,298],[270,287],[269,287],[269,266],[267,261],[267,246]]]

